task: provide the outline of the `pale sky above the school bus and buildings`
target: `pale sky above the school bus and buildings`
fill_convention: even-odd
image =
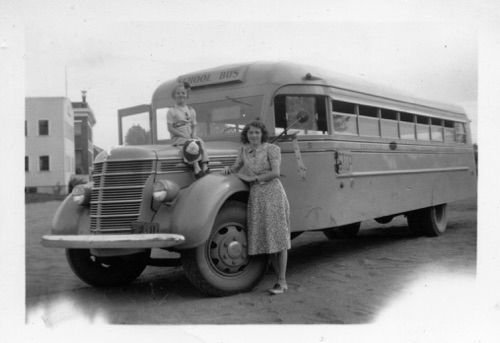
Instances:
[[[169,8],[161,4],[151,9]],[[226,5],[228,14],[238,10]],[[84,13],[76,5],[69,9]],[[285,60],[462,106],[477,140],[478,27],[468,16],[372,22],[328,20],[320,12],[301,20],[283,13],[275,20],[216,19],[220,11],[207,9],[193,20],[167,19],[168,11],[160,20],[106,20],[110,13],[103,11],[71,23],[64,16],[29,23],[25,95],[81,101],[81,91],[87,91],[97,119],[94,143],[105,149],[118,144],[117,110],[150,103],[168,79],[227,63]],[[456,20],[467,25],[451,22]]]

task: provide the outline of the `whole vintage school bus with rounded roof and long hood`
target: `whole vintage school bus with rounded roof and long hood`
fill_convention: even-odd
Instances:
[[[176,84],[188,103],[212,173],[194,179],[172,146],[166,113]],[[135,280],[146,265],[182,265],[201,292],[251,290],[268,260],[249,256],[249,186],[218,171],[233,164],[245,124],[259,119],[282,152],[292,238],[322,230],[355,236],[360,222],[404,215],[414,234],[439,236],[446,204],[475,196],[469,120],[455,106],[417,100],[315,67],[256,62],[182,75],[150,105],[118,112],[119,147],[100,153],[92,182],[61,204],[47,247],[67,249],[75,274],[94,286]],[[153,248],[180,254],[151,258]]]

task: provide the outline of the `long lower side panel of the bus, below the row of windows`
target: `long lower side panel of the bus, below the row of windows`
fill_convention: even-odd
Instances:
[[[402,214],[476,194],[470,146],[400,145],[391,150],[389,144],[301,142],[300,147],[305,178],[296,172],[290,145],[282,144],[287,174],[281,180],[294,209],[292,231]],[[339,153],[350,156],[347,172],[337,166]]]

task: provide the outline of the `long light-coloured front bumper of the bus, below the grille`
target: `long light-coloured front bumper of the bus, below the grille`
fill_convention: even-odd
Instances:
[[[46,235],[42,245],[47,248],[126,249],[168,248],[184,243],[185,238],[172,233],[129,235]]]

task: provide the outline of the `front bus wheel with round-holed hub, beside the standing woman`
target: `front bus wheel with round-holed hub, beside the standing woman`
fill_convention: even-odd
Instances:
[[[203,294],[248,292],[259,283],[268,255],[247,253],[247,206],[228,201],[219,211],[207,241],[181,252],[187,278]]]

